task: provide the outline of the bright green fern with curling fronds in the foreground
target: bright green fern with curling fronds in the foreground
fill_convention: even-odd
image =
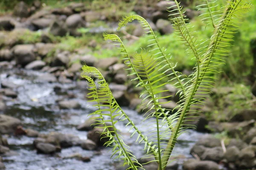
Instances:
[[[97,68],[85,64],[82,67],[81,76],[87,79],[90,87],[88,98],[96,102],[94,106],[98,109],[92,115],[98,115],[100,119],[98,126],[104,129],[102,136],[110,139],[105,145],[113,147],[112,156],[124,160],[124,165],[127,164],[132,170],[143,168],[143,165],[137,161],[128,145],[123,142],[116,123],[126,122],[126,126],[130,126],[130,130],[133,130],[131,136],[137,134],[136,142],[144,142],[146,154],[148,157],[154,157],[158,170],[165,170],[172,150],[178,142],[177,138],[188,128],[184,126],[186,125],[185,118],[198,112],[192,108],[204,104],[204,97],[210,92],[214,83],[213,74],[218,73],[217,68],[224,63],[224,57],[229,53],[227,47],[231,46],[233,34],[238,29],[235,23],[238,23],[243,14],[253,6],[246,0],[228,0],[227,4],[221,6],[219,10],[220,8],[217,8],[215,4],[217,0],[203,1],[204,4],[197,8],[203,11],[201,14],[205,16],[203,22],[212,25],[213,34],[209,39],[197,40],[193,36],[194,33],[189,31],[191,26],[184,16],[180,3],[177,0],[167,0],[169,3],[167,10],[173,21],[173,28],[187,46],[187,53],[192,53],[196,60],[194,72],[188,77],[175,71],[177,63],[170,62],[172,56],[165,54],[166,50],[160,47],[156,35],[143,17],[139,15],[124,17],[117,28],[120,30],[127,23],[137,20],[147,36],[151,37],[147,48],[141,48],[140,52],[134,54],[134,57],[129,56],[125,45],[116,34],[103,34],[105,40],[112,40],[114,45],[120,49],[122,59],[128,66],[128,76],[136,77],[132,81],[137,81],[136,86],[143,89],[140,97],[143,99],[145,108],[148,108],[144,117],[145,119],[154,118],[154,122],[149,121],[148,127],[154,127],[150,124],[153,123],[156,126],[155,133],[145,135],[134,125],[116,102],[108,83]],[[151,48],[152,46],[154,48]],[[163,81],[166,79],[168,80]],[[163,86],[168,83],[180,89],[177,92],[180,95],[180,102],[173,111],[161,107],[164,104],[161,101],[169,97],[165,95],[166,90],[163,90]],[[167,142],[163,139],[167,139]]]

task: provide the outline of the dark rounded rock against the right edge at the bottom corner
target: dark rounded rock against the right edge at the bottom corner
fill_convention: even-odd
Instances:
[[[237,163],[240,169],[250,169],[256,167],[256,146],[248,146],[242,149],[239,153],[239,162]]]

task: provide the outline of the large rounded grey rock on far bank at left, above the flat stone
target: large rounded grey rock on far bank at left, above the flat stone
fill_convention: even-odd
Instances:
[[[26,65],[29,62],[32,62],[35,60],[35,54],[34,54],[34,48],[35,46],[32,44],[23,44],[23,45],[15,45],[15,47],[12,48],[13,55],[15,57],[16,63],[20,65]]]

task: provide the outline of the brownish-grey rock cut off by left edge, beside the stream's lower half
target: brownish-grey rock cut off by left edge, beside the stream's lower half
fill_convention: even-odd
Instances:
[[[21,125],[19,119],[4,114],[0,115],[0,133],[14,133],[17,126]]]

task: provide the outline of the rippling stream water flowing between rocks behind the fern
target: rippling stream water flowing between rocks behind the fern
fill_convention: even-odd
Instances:
[[[86,92],[78,88],[76,82],[49,83],[41,81],[46,73],[27,71],[22,69],[0,70],[0,81],[16,86],[17,99],[8,99],[8,109],[5,114],[19,118],[24,128],[38,130],[40,133],[57,131],[65,134],[74,134],[80,139],[87,139],[87,132],[76,130],[76,126],[87,119],[88,114],[94,111],[86,101]],[[61,90],[56,90],[61,87]],[[81,109],[59,109],[56,101],[73,96],[81,104]],[[124,108],[125,112],[134,120],[135,125],[141,127],[143,116],[137,112]],[[137,157],[143,156],[143,144],[137,144],[136,136],[130,138],[129,127],[119,123],[124,141],[131,147]],[[144,127],[145,128],[145,127]],[[147,129],[143,129],[147,130]],[[190,157],[189,150],[202,133],[189,130],[179,137],[179,144],[175,153]],[[11,150],[17,152],[11,156],[4,156],[6,170],[114,170],[116,161],[110,159],[111,148],[102,147],[97,151],[83,150],[81,147],[64,148],[54,155],[38,154],[33,146],[35,138],[27,136],[4,136],[8,139]],[[90,162],[83,162],[67,158],[79,153],[91,157]]]

